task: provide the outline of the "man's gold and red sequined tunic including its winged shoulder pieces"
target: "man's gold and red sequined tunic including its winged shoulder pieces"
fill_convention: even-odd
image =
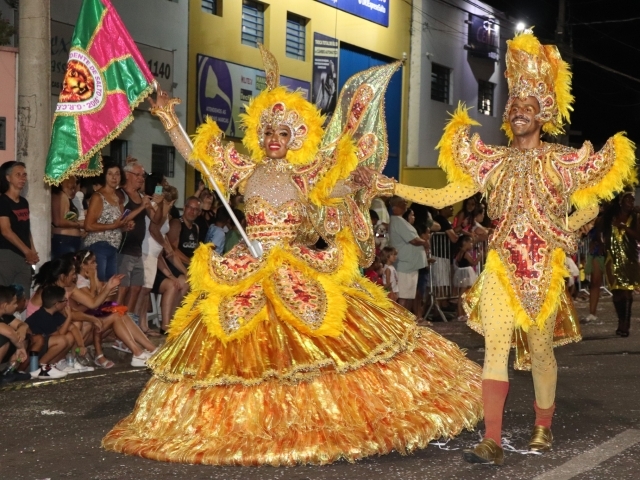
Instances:
[[[497,227],[489,248],[505,265],[509,283],[533,324],[559,272],[553,252],[573,253],[576,235],[569,230],[569,198],[599,182],[615,152],[608,142],[598,153],[590,143],[580,150],[542,143],[519,150],[485,145],[468,128],[457,132],[456,163],[488,195],[488,215]]]

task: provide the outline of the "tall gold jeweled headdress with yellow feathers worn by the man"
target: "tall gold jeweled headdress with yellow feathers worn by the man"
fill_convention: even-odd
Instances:
[[[502,129],[510,140],[513,132],[509,125],[509,110],[516,98],[535,97],[540,104],[536,118],[543,123],[542,131],[552,135],[563,133],[573,110],[571,71],[562,60],[555,45],[542,45],[531,30],[507,41],[507,70],[509,100],[502,115]]]

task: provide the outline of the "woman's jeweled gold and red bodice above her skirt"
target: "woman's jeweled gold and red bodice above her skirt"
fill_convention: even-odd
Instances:
[[[266,160],[258,165],[247,180],[244,194],[249,238],[268,247],[296,237],[304,208],[288,164]]]

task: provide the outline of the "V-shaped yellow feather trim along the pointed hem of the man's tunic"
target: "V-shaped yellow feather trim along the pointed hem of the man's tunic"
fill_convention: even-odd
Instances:
[[[513,291],[509,274],[506,267],[500,260],[499,255],[490,250],[487,255],[487,262],[485,264],[486,272],[493,272],[498,277],[502,288],[509,296],[509,306],[515,314],[515,327],[521,328],[525,332],[529,330],[529,327],[536,324],[538,328],[544,328],[545,321],[549,316],[554,313],[560,303],[560,295],[564,291],[564,278],[569,275],[564,265],[565,254],[560,248],[556,248],[553,251],[551,257],[551,281],[549,283],[549,289],[547,295],[544,298],[544,302],[538,311],[538,315],[535,319],[529,317],[529,314],[525,312],[520,303],[520,299]]]

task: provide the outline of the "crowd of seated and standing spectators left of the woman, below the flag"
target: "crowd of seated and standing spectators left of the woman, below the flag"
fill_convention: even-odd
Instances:
[[[24,164],[0,170],[0,371],[2,383],[112,368],[103,345],[144,367],[188,293],[195,249],[223,254],[240,235],[201,182],[175,207],[178,191],[135,159],[52,189],[51,257],[40,266],[31,234]],[[244,222],[242,198],[234,213]],[[238,208],[239,207],[239,208]],[[153,294],[153,297],[151,296]],[[152,303],[156,301],[156,304]],[[149,309],[159,305],[156,327]],[[29,371],[30,374],[22,373]]]

